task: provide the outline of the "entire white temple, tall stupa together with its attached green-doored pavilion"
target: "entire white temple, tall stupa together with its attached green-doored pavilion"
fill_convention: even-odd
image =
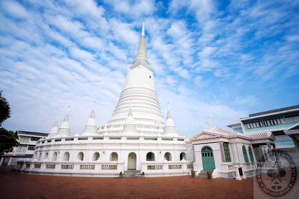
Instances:
[[[147,60],[144,20],[137,56],[110,120],[97,127],[95,105],[81,135],[71,135],[71,115],[58,118],[45,139],[37,141],[33,159],[18,161],[16,171],[40,175],[118,177],[207,175],[241,180],[254,175],[259,158],[275,148],[271,132],[242,134],[211,127],[186,139],[170,114],[163,117],[155,77]],[[262,147],[262,146],[267,146]]]

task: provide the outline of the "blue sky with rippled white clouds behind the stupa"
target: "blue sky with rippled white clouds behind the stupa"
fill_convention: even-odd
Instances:
[[[71,134],[96,101],[112,115],[141,35],[166,117],[180,135],[299,104],[299,1],[1,1],[0,85],[9,130]]]

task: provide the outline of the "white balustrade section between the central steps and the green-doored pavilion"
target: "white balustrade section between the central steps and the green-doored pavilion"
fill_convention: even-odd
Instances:
[[[192,161],[141,161],[141,172],[145,176],[191,175]]]

